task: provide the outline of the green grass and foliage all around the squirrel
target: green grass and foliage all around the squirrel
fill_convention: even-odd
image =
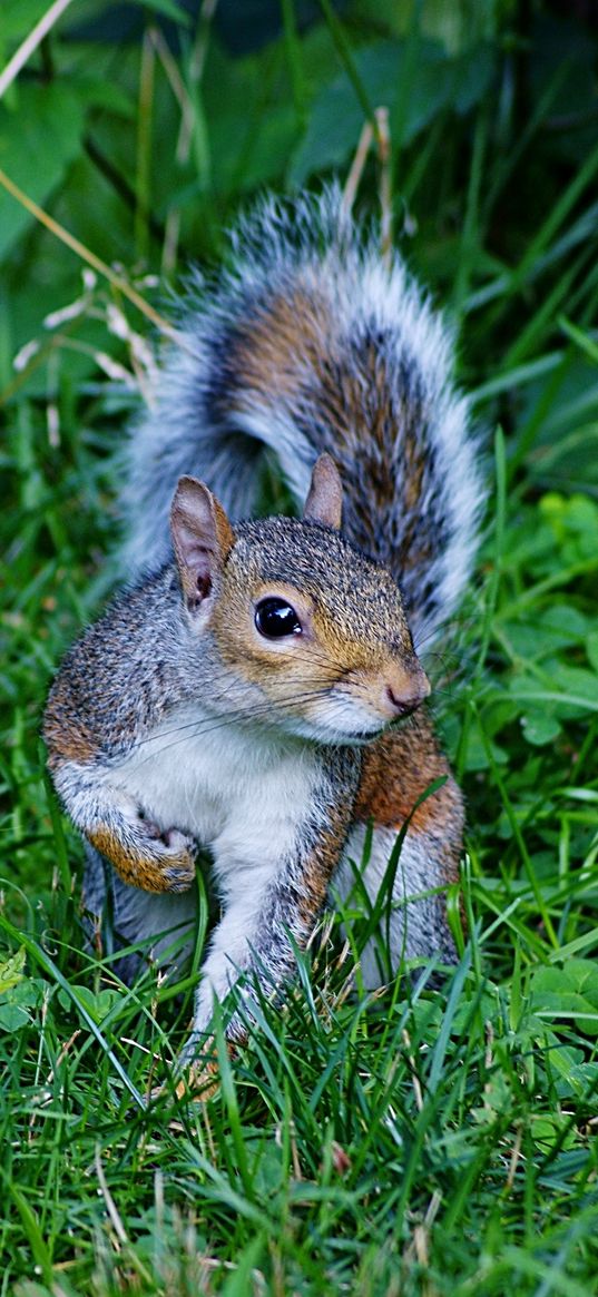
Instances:
[[[4,8],[8,58],[44,5]],[[232,1061],[221,1038],[217,1092],[175,1101],[193,977],[130,990],[84,952],[82,848],[38,738],[110,588],[110,454],[140,397],[106,374],[106,354],[132,366],[108,307],[152,335],[101,279],[44,328],[80,263],[0,200],[1,1297],[598,1292],[594,47],[550,5],[441,8],[326,5],[304,31],[285,0],[279,36],[261,10],[267,39],[252,52],[239,27],[233,57],[223,4],[217,31],[180,29],[176,149],[160,38],[141,57],[88,0],[0,104],[0,166],[167,314],[148,272],[218,256],[261,184],[346,174],[389,96],[396,235],[451,303],[493,484],[475,586],[431,658],[468,804],[459,966],[368,999],[324,921],[285,1012],[262,1005]],[[365,211],[376,183],[370,160]]]

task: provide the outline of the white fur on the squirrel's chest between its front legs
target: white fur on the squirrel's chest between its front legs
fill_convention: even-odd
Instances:
[[[310,743],[178,709],[105,778],[162,830],[176,827],[227,861],[279,856],[313,805],[318,757]]]

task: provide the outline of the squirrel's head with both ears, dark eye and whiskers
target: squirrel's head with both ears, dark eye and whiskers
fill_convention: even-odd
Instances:
[[[233,528],[208,486],[182,477],[171,533],[192,628],[210,632],[222,663],[224,706],[228,689],[248,720],[359,743],[410,715],[429,684],[398,586],[341,536],[341,510],[339,471],[320,455],[301,520]]]

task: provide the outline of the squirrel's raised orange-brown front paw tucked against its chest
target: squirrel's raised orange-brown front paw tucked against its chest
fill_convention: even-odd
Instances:
[[[161,830],[139,816],[95,826],[87,837],[132,887],[183,892],[195,879],[195,843],[178,829]]]

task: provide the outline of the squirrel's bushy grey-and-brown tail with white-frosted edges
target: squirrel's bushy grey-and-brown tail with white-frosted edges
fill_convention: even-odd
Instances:
[[[344,533],[392,572],[416,643],[429,639],[467,585],[484,498],[450,328],[398,256],[383,262],[337,185],[267,198],[231,245],[232,268],[192,278],[180,346],[128,445],[127,575],[169,556],[182,473],[241,518],[272,454],[302,505],[326,450]]]

